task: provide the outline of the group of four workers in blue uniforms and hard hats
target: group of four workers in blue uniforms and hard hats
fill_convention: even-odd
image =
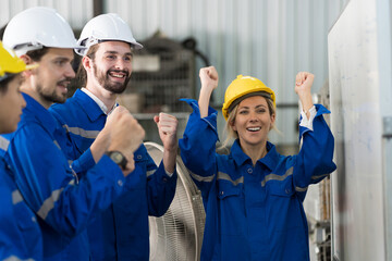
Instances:
[[[281,156],[268,141],[275,96],[238,75],[222,108],[229,154],[216,153],[219,76],[199,72],[198,101],[177,140],[177,120],[159,113],[163,158],[157,166],[145,132],[117,103],[140,49],[118,14],[101,14],[78,40],[53,9],[30,8],[8,23],[0,44],[0,259],[148,260],[148,216],[161,216],[175,195],[180,148],[206,210],[201,260],[309,260],[303,201],[310,184],[335,170],[333,136],[314,104],[314,75],[296,76],[302,102],[301,150]],[[81,88],[66,99],[76,76]],[[225,142],[226,144],[226,142]]]

